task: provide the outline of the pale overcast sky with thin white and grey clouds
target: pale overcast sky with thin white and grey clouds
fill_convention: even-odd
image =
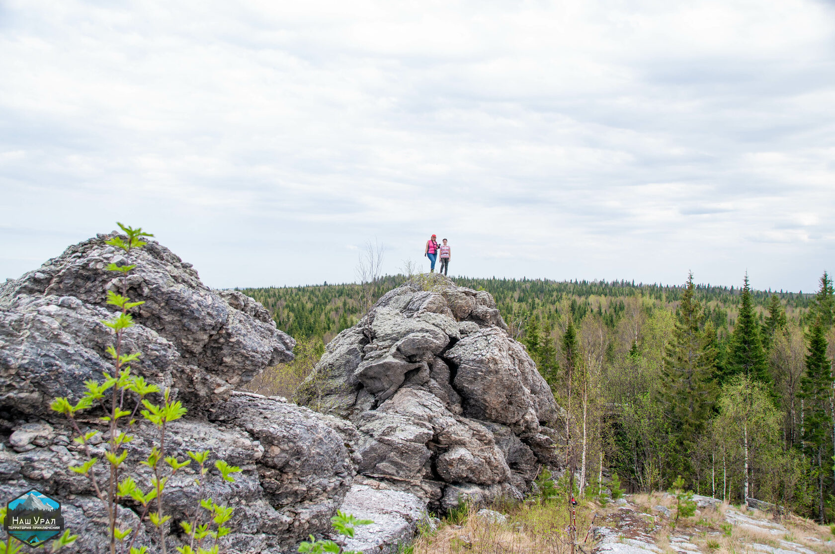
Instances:
[[[0,0],[0,280],[116,228],[216,288],[817,288],[835,3]]]

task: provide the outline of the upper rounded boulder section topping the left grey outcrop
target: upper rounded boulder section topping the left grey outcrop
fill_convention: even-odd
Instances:
[[[66,249],[39,269],[0,285],[0,405],[43,413],[56,395],[77,400],[83,381],[99,378],[109,363],[112,333],[101,320],[120,292],[108,264],[136,264],[127,295],[134,309],[128,347],[143,352],[134,369],[173,386],[185,399],[228,395],[236,386],[292,359],[295,341],[269,314],[240,292],[215,292],[191,264],[150,241],[129,256],[99,235]]]

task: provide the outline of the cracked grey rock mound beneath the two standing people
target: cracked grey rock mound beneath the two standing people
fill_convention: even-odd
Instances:
[[[388,292],[337,335],[298,400],[357,426],[366,482],[433,510],[521,499],[539,466],[559,466],[559,406],[534,361],[491,295],[442,276]]]

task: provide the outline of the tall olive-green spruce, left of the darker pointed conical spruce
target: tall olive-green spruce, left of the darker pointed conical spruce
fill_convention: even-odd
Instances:
[[[695,292],[691,273],[681,295],[676,327],[661,370],[661,398],[680,446],[678,466],[687,475],[691,473],[690,454],[704,431],[715,400],[716,332],[712,325],[701,329],[703,312]]]

